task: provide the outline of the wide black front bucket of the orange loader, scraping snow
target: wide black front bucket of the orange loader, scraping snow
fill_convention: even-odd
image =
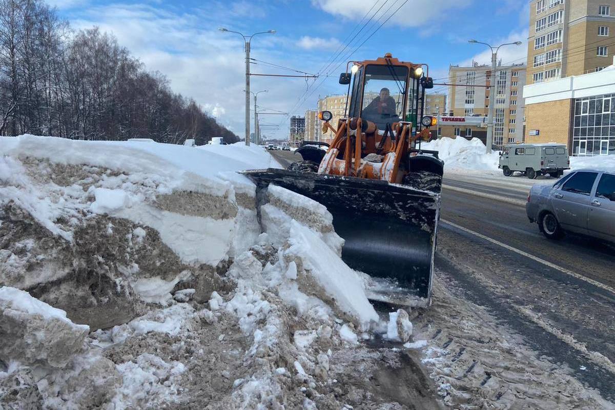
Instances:
[[[296,171],[244,171],[258,189],[270,183],[327,207],[346,242],[342,259],[370,276],[370,299],[405,306],[431,301],[440,195],[375,179]]]

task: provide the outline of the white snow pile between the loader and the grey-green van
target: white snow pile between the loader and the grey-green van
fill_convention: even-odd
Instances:
[[[485,144],[478,138],[439,138],[428,143],[421,142],[421,149],[438,151],[445,170],[498,170],[498,152],[485,154]]]

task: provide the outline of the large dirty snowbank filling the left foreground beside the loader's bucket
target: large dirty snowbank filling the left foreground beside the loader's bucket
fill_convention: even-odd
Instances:
[[[369,406],[331,375],[363,339],[416,347],[408,314],[379,317],[322,205],[257,205],[237,171],[268,167],[241,143],[1,138],[0,408]]]

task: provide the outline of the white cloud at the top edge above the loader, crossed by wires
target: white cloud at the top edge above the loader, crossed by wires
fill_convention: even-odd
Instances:
[[[451,10],[463,9],[469,6],[472,1],[473,0],[408,0],[399,11],[391,17],[389,23],[402,27],[427,25],[442,20],[442,17],[450,13]],[[350,20],[360,20],[369,12],[369,16],[375,14],[372,22],[378,19],[380,19],[380,22],[383,22],[389,15],[392,15],[403,2],[386,2],[386,0],[312,0],[312,4],[329,14],[339,15]],[[381,6],[382,8],[380,8]]]

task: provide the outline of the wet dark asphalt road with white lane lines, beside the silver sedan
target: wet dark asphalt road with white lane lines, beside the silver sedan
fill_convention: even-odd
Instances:
[[[300,159],[271,153],[284,167]],[[615,246],[540,234],[525,202],[532,184],[554,181],[445,172],[437,274],[615,401]]]

